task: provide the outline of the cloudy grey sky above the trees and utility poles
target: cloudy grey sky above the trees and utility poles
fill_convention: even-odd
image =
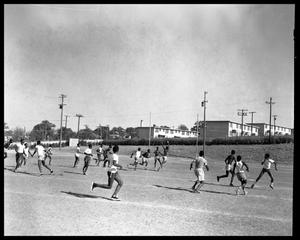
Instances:
[[[294,127],[293,4],[6,4],[4,122]],[[272,118],[273,119],[273,118]],[[244,117],[251,122],[251,115]],[[273,123],[273,120],[272,120]],[[63,126],[65,122],[63,122]]]

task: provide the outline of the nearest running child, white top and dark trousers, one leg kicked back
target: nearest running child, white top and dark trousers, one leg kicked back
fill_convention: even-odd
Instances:
[[[92,182],[91,190],[93,191],[94,188],[106,188],[111,189],[113,186],[113,182],[116,181],[118,183],[113,195],[111,196],[112,200],[119,200],[118,193],[123,186],[123,180],[118,172],[118,168],[122,169],[122,166],[119,164],[119,156],[117,155],[117,152],[119,151],[118,145],[114,145],[113,147],[113,154],[112,154],[112,161],[109,163],[109,168],[107,171],[108,176],[108,184],[98,184],[95,182]]]

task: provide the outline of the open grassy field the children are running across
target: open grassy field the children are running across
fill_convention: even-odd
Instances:
[[[154,148],[154,147],[153,147]],[[200,147],[201,148],[201,147]],[[199,150],[200,150],[199,148]],[[82,148],[84,149],[84,148]],[[137,146],[120,146],[120,164],[127,166]],[[142,147],[142,149],[146,149]],[[225,173],[224,158],[235,149],[249,167],[248,195],[237,196]],[[92,162],[86,176],[83,160],[72,168],[74,148],[54,149],[54,175],[44,169],[38,175],[36,158],[29,158],[18,173],[14,153],[4,162],[4,235],[159,235],[159,236],[290,236],[293,227],[293,145],[207,146],[210,171],[201,193],[192,193],[195,180],[189,163],[195,146],[170,146],[165,168],[120,171],[124,180],[120,202],[109,200],[114,191],[95,189],[92,181],[106,183],[106,169]],[[254,189],[249,185],[258,176],[265,152],[278,162],[272,169],[275,188],[264,175]],[[177,157],[174,157],[177,156]],[[181,156],[181,157],[178,157]],[[234,185],[238,186],[237,179]]]

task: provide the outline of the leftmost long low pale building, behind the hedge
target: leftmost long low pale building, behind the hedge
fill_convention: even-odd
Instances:
[[[150,138],[188,138],[197,137],[196,131],[181,130],[166,127],[137,127],[136,133],[139,138],[149,139]]]

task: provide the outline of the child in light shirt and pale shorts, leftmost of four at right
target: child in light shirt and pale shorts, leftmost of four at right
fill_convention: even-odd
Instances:
[[[199,190],[200,188],[204,185],[204,170],[203,167],[206,167],[206,170],[209,171],[208,165],[207,165],[207,160],[204,158],[204,152],[200,151],[199,156],[194,159],[191,164],[190,164],[190,170],[192,170],[193,165],[195,163],[195,169],[194,173],[197,177],[192,190],[194,193],[200,193]],[[198,184],[198,186],[197,186]],[[197,186],[197,187],[196,187]]]

